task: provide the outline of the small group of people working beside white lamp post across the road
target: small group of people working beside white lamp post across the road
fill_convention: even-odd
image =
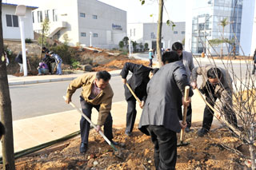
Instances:
[[[28,50],[26,49],[26,54]],[[38,76],[43,74],[54,74],[56,72],[57,75],[62,75],[62,58],[59,57],[57,53],[46,49],[46,47],[42,48],[42,53],[45,53],[45,57],[42,58],[42,61],[39,62],[38,65]],[[22,51],[18,53],[15,61],[20,66],[19,73],[23,73],[23,59],[22,59]],[[54,68],[52,68],[52,63],[55,63]]]

